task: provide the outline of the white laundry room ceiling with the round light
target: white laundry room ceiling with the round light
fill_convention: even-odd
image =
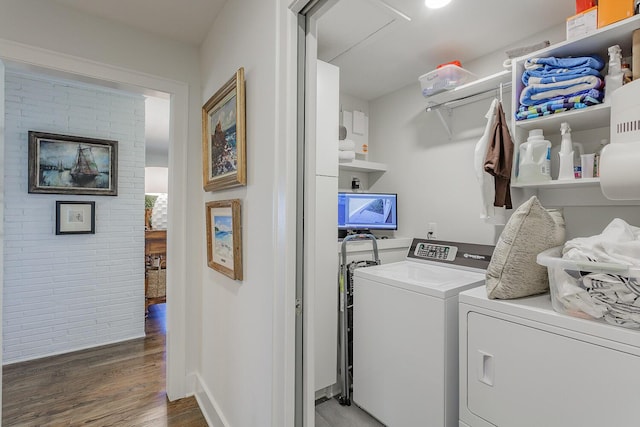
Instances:
[[[318,57],[340,67],[343,92],[372,100],[438,64],[541,42],[527,38],[573,14],[574,0],[339,0],[318,21]]]

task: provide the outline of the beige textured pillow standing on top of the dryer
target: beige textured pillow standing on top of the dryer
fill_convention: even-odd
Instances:
[[[545,209],[536,196],[516,209],[507,222],[487,267],[487,296],[511,299],[549,290],[547,268],[536,256],[565,241],[562,211]]]

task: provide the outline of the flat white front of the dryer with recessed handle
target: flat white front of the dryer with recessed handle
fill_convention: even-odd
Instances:
[[[583,336],[469,312],[468,409],[501,427],[637,426],[638,349]]]

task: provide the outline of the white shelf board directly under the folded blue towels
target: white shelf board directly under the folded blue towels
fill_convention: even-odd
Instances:
[[[568,122],[571,131],[608,127],[611,120],[611,106],[609,104],[591,105],[577,110],[564,111],[535,119],[518,120],[515,126],[520,129],[542,129],[545,134],[559,133],[560,124]]]

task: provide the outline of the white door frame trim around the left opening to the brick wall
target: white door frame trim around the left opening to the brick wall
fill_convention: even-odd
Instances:
[[[51,73],[59,73],[67,77],[74,76],[76,79],[99,86],[116,85],[134,93],[162,92],[170,95],[169,168],[174,172],[169,175],[171,198],[168,202],[167,226],[167,254],[171,257],[171,268],[167,269],[167,281],[172,286],[167,287],[166,390],[169,400],[187,396],[187,393],[193,389],[188,384],[192,381],[187,379],[186,336],[188,331],[184,285],[188,283],[186,278],[187,144],[175,144],[175,141],[188,140],[188,84],[4,39],[0,39],[0,61],[50,70]],[[0,244],[2,240],[0,237]],[[4,268],[1,263],[0,275],[4,277]],[[0,282],[0,287],[2,286],[3,283]],[[0,306],[0,314],[1,311]]]

